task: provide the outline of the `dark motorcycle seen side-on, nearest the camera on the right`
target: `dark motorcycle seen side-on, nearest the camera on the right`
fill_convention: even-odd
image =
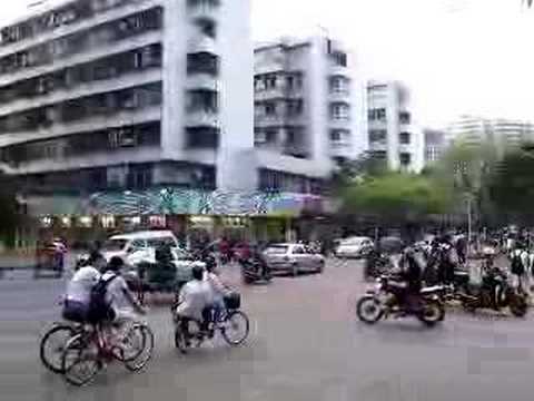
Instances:
[[[356,314],[362,322],[375,324],[390,315],[396,319],[415,316],[432,327],[445,320],[445,306],[438,295],[443,291],[441,286],[424,287],[417,295],[412,295],[412,302],[399,303],[389,283],[392,278],[388,275],[380,276],[376,287],[359,299]]]

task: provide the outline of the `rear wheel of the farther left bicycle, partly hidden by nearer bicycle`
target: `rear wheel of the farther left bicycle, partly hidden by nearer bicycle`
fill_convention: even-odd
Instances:
[[[61,374],[61,358],[67,342],[76,334],[75,327],[68,324],[56,324],[44,333],[39,345],[39,356],[44,368]]]

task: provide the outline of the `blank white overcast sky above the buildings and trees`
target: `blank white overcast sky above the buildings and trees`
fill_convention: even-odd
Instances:
[[[24,1],[2,4],[1,18],[23,13]],[[423,124],[466,113],[534,120],[534,9],[521,1],[253,0],[253,29],[256,40],[342,39],[364,77],[411,87]]]

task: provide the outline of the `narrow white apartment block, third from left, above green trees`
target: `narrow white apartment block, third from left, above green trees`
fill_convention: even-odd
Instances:
[[[390,169],[418,173],[424,165],[424,138],[409,100],[400,82],[368,82],[368,150]]]

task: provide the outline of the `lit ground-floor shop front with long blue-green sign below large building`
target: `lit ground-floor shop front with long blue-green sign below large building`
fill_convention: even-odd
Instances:
[[[289,242],[303,234],[306,213],[322,213],[319,196],[269,192],[202,192],[156,188],[106,192],[88,198],[29,197],[39,238],[59,236],[72,246],[139,229],[171,229],[184,242]]]

